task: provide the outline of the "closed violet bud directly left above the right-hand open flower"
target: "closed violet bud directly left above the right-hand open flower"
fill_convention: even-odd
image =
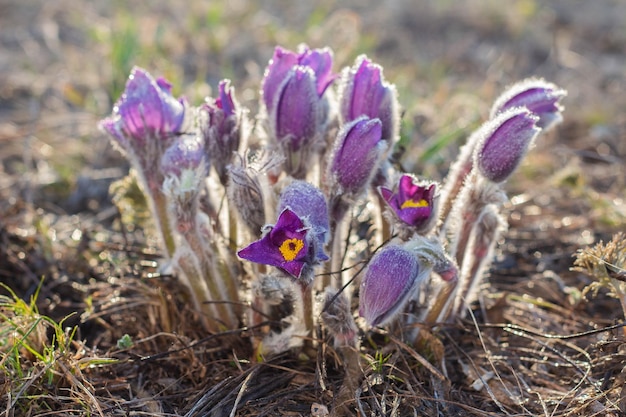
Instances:
[[[365,191],[386,148],[378,119],[362,116],[338,133],[331,152],[329,178],[335,194],[359,195]]]

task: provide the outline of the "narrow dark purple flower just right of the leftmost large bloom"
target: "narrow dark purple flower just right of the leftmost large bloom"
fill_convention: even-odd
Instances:
[[[241,143],[244,114],[235,99],[230,80],[220,81],[217,98],[207,98],[199,109],[200,131],[205,138],[206,152],[222,184],[226,184],[226,167]]]

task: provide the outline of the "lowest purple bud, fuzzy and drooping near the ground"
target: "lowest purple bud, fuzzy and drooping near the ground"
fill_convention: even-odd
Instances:
[[[359,293],[359,315],[370,326],[392,320],[417,290],[421,281],[418,257],[396,244],[372,256]]]

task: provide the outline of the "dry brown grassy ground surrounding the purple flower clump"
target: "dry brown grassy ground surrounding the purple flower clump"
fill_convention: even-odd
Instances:
[[[3,415],[626,412],[620,304],[583,296],[594,278],[571,270],[579,249],[624,229],[623,5],[369,3],[0,1]],[[111,205],[127,167],[95,128],[134,63],[196,103],[231,77],[254,106],[274,44],[302,41],[330,45],[338,65],[368,52],[385,66],[405,108],[403,165],[435,178],[504,84],[540,75],[570,93],[564,124],[509,184],[510,230],[472,319],[419,350],[362,335],[346,404],[321,330],[316,352],[262,360],[256,329],[200,330],[175,277],[158,275],[154,242]]]

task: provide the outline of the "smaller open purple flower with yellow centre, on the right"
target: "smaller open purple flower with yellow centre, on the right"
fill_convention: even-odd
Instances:
[[[385,187],[379,187],[378,192],[405,227],[425,233],[437,218],[436,189],[435,183],[419,183],[412,175],[404,174],[396,192]]]

